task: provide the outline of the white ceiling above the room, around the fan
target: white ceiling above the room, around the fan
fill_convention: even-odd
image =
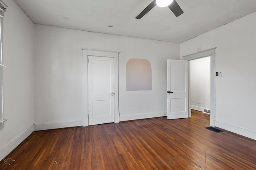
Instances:
[[[256,11],[256,0],[176,0],[184,11],[179,17],[155,6],[135,19],[152,1],[14,0],[33,23],[175,43]]]

